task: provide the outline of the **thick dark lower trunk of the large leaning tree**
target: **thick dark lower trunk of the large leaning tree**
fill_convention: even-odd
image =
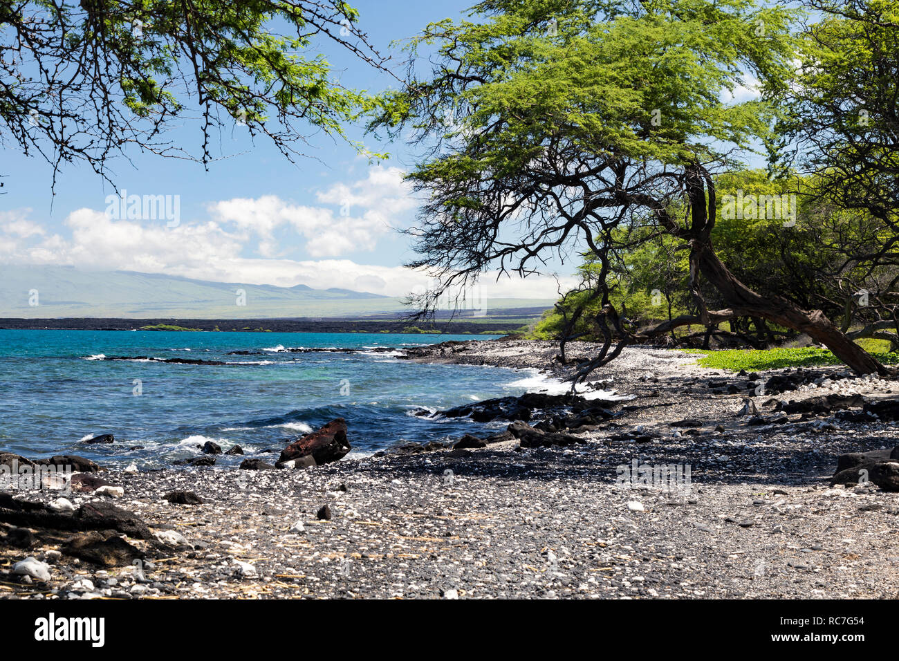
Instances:
[[[710,241],[694,239],[691,244],[691,258],[697,260],[700,272],[733,308],[734,313],[762,317],[779,326],[806,333],[815,342],[824,344],[833,355],[859,374],[876,373],[885,376],[890,373],[873,356],[844,335],[830,319],[824,317],[821,310],[806,311],[787,299],[766,299],[760,296],[727,270],[712,250]]]

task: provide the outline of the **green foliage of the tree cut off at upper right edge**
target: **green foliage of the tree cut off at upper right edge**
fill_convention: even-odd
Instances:
[[[821,20],[803,33],[796,85],[781,105],[779,130],[819,174],[816,192],[844,209],[899,222],[899,4],[815,0]]]

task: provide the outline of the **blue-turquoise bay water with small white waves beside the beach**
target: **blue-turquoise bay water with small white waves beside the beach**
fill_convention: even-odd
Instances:
[[[390,353],[288,353],[290,347],[402,348],[472,335],[0,330],[0,451],[72,453],[160,467],[197,456],[198,444],[254,454],[335,417],[353,452],[484,431],[464,420],[409,415],[518,395],[528,375],[503,368],[423,365]],[[229,352],[243,351],[239,355]],[[223,361],[186,365],[111,361],[147,356]],[[139,392],[140,394],[135,394]],[[502,426],[502,425],[500,425]],[[114,445],[85,438],[115,434]],[[143,450],[129,450],[142,445]],[[277,456],[277,455],[274,455]],[[221,458],[220,464],[240,458]]]

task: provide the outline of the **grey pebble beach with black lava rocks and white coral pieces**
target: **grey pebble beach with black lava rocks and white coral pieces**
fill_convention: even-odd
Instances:
[[[569,356],[593,348],[575,343]],[[405,359],[562,378],[571,368],[556,353],[496,340]],[[277,463],[292,469],[79,464],[66,496],[0,493],[0,596],[899,594],[899,381],[841,368],[738,375],[695,360],[628,348],[583,397],[423,410],[496,433],[374,457],[345,456],[349,420],[291,443]]]

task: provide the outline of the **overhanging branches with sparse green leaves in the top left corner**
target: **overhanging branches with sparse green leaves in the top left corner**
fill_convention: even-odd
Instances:
[[[357,18],[343,0],[0,0],[0,144],[46,158],[54,182],[67,163],[109,178],[138,150],[207,164],[236,125],[292,159],[368,103],[314,48],[383,69]]]

